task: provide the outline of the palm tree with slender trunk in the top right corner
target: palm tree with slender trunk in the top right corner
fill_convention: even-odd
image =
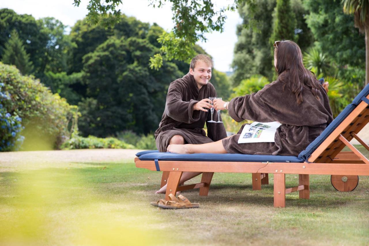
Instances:
[[[355,27],[365,33],[365,85],[369,82],[369,0],[342,0],[344,12],[354,14]]]

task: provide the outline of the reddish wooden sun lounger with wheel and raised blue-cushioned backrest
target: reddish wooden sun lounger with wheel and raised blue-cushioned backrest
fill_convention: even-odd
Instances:
[[[363,93],[364,92],[364,93]],[[369,122],[369,86],[347,106],[331,125],[326,129],[307,150],[300,153],[301,161],[191,161],[191,160],[145,160],[146,155],[135,158],[136,167],[147,168],[152,171],[163,171],[162,183],[168,181],[165,198],[177,191],[200,188],[200,195],[207,195],[214,172],[245,172],[252,173],[253,189],[261,189],[262,184],[268,184],[268,174],[274,176],[274,206],[285,207],[286,194],[299,191],[299,197],[309,199],[309,175],[332,175],[334,187],[340,191],[349,191],[356,187],[354,180],[357,175],[369,175],[369,160],[349,141],[357,139],[367,150],[357,134]],[[355,101],[357,103],[355,103]],[[339,123],[337,123],[339,122]],[[327,127],[328,128],[328,127]],[[329,131],[327,131],[329,130]],[[328,132],[328,133],[327,133]],[[324,136],[324,134],[326,136]],[[351,151],[342,151],[347,146]],[[308,150],[310,148],[310,150]],[[309,152],[310,151],[310,152]],[[310,154],[311,153],[311,154]],[[159,154],[159,153],[158,153]],[[171,154],[175,155],[175,154]],[[190,154],[192,156],[196,154]],[[200,154],[201,155],[201,154]],[[222,154],[214,154],[222,155]],[[227,154],[224,154],[227,155]],[[230,155],[230,154],[228,154]],[[233,154],[235,155],[235,154]],[[250,155],[245,155],[250,156]],[[270,156],[272,157],[272,156]],[[142,160],[140,160],[140,158]],[[155,157],[156,158],[156,157]],[[297,158],[297,157],[296,157]],[[303,161],[302,161],[303,160]],[[198,184],[178,187],[182,172],[203,172],[201,182]],[[285,175],[299,174],[299,185],[286,189]],[[355,186],[355,187],[353,187]]]

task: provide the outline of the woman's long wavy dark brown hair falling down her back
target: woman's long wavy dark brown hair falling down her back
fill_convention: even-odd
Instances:
[[[303,85],[306,85],[319,100],[319,86],[321,85],[315,75],[304,67],[299,45],[290,40],[280,41],[277,45],[274,57],[277,58],[278,80],[295,94],[298,105],[303,102]]]

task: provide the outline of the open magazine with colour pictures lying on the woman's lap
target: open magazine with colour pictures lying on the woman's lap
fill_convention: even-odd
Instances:
[[[245,125],[238,143],[274,142],[274,135],[280,125],[278,122],[253,122]]]

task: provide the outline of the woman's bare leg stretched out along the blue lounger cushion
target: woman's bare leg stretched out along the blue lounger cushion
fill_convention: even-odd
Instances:
[[[166,150],[170,153],[178,154],[227,153],[227,151],[223,147],[222,140],[206,144],[170,144]]]

